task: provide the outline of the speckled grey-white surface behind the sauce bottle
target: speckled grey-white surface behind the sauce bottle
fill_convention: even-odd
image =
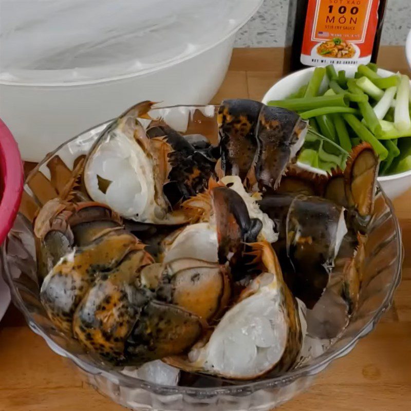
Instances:
[[[241,0],[247,1],[247,0]],[[263,5],[236,36],[234,47],[283,47],[290,0],[264,0]],[[411,29],[411,0],[388,0],[382,45],[405,45]]]

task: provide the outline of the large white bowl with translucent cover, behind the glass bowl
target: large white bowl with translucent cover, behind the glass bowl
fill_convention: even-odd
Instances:
[[[0,116],[23,159],[41,160],[137,101],[209,103],[261,2],[5,2]]]

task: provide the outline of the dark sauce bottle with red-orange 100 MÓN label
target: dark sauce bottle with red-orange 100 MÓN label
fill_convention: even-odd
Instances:
[[[375,63],[385,3],[386,0],[291,0],[289,22],[294,20],[294,33],[290,70]]]

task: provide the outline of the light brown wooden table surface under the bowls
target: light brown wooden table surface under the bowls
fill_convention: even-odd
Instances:
[[[283,49],[235,49],[222,98],[259,100],[282,77]],[[382,47],[379,64],[407,71],[402,47]],[[311,388],[280,411],[411,410],[411,191],[394,201],[403,234],[402,282],[394,306],[377,328],[343,359],[320,373]],[[1,411],[120,411],[124,408],[82,383],[9,307],[0,323]],[[224,411],[224,410],[216,410]]]

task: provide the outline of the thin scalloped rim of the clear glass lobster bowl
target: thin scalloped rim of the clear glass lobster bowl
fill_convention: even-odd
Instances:
[[[176,108],[176,107],[194,107],[194,108],[201,108],[201,107],[206,107],[210,106],[213,104],[208,104],[208,105],[174,105],[174,106],[166,106],[166,107],[155,107],[153,109],[167,109],[167,108]],[[216,106],[215,106],[216,107]],[[88,130],[85,130],[84,132],[80,133],[79,135],[67,140],[65,143],[61,144],[59,147],[57,147],[53,152],[48,153],[47,156],[39,162],[39,164],[32,170],[32,172],[27,176],[25,180],[25,184],[27,180],[30,178],[32,173],[35,173],[40,169],[40,167],[46,163],[52,156],[55,155],[56,152],[60,150],[61,147],[65,146],[69,142],[76,140],[80,138],[82,135],[91,132],[92,130],[106,126],[108,123],[110,123],[112,120],[103,122],[101,124],[98,124],[94,127],[90,127]],[[383,193],[383,192],[382,192]],[[391,201],[387,198],[385,194],[384,199],[389,206],[391,212],[393,212],[393,204]],[[247,392],[254,392],[259,389],[265,389],[265,388],[270,388],[270,387],[276,387],[276,386],[284,386],[288,383],[292,383],[298,378],[301,377],[307,377],[307,376],[312,376],[316,375],[320,371],[322,371],[325,367],[327,367],[331,361],[340,358],[347,354],[356,344],[357,342],[365,337],[377,324],[377,322],[380,320],[381,315],[385,312],[387,308],[392,304],[393,302],[393,297],[394,297],[394,291],[397,288],[400,279],[401,279],[401,266],[402,266],[402,260],[403,260],[403,247],[402,247],[402,241],[401,241],[401,231],[399,227],[399,223],[397,218],[395,220],[395,226],[396,226],[396,232],[398,234],[397,241],[399,243],[399,250],[400,254],[397,258],[397,269],[396,269],[396,275],[395,278],[393,278],[393,283],[388,291],[385,300],[383,304],[379,307],[379,309],[375,312],[373,317],[368,321],[367,324],[365,324],[360,330],[357,331],[356,335],[354,338],[352,338],[345,346],[341,347],[338,351],[335,351],[332,353],[330,356],[327,356],[327,351],[325,351],[321,356],[317,357],[313,362],[309,365],[303,365],[299,368],[293,369],[291,371],[287,371],[283,373],[282,375],[279,375],[277,377],[269,378],[269,379],[261,379],[261,380],[256,380],[253,382],[247,382],[244,384],[235,384],[232,386],[225,386],[225,387],[206,387],[206,388],[201,388],[201,387],[187,387],[187,386],[173,386],[173,385],[161,385],[161,384],[156,384],[156,383],[151,383],[147,382],[145,380],[141,380],[135,377],[127,376],[121,373],[120,371],[117,371],[116,369],[113,370],[107,370],[104,368],[99,368],[98,364],[93,364],[89,363],[87,361],[84,361],[83,359],[80,359],[76,357],[75,354],[70,353],[69,351],[66,351],[64,348],[59,346],[57,343],[54,341],[52,344],[57,345],[59,347],[60,355],[64,355],[66,358],[70,359],[71,361],[74,362],[77,366],[79,366],[82,370],[84,370],[87,373],[92,373],[93,375],[99,374],[104,376],[105,378],[109,379],[110,381],[113,381],[115,383],[120,383],[128,387],[132,388],[143,388],[147,389],[153,393],[159,393],[162,395],[174,395],[174,394],[188,394],[188,395],[199,395],[203,397],[210,397],[210,396],[215,396],[219,394],[223,395],[230,395],[230,394],[240,394],[241,392],[247,391]],[[5,243],[1,246],[2,249],[2,256],[5,260],[6,256],[6,248],[5,248]],[[7,276],[11,278],[11,275],[9,273],[8,266],[4,264],[5,271],[7,273]],[[9,282],[9,279],[7,279]],[[26,322],[31,328],[33,332],[36,334],[40,335],[46,343],[50,346],[49,340],[50,338],[47,335],[47,332],[44,331],[42,326],[39,326],[36,324],[36,322],[31,318],[30,313],[28,312],[24,302],[22,301],[22,298],[18,292],[14,289],[14,285],[10,287],[10,291],[12,294],[12,300],[17,304],[17,307],[22,311],[22,313],[25,316]],[[51,348],[51,347],[50,347]],[[64,354],[62,354],[62,352]],[[91,370],[92,368],[93,370]]]

